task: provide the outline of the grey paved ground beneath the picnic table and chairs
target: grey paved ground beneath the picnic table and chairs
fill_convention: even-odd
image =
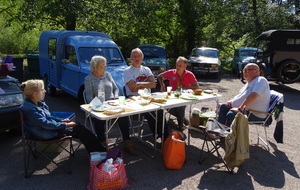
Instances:
[[[234,96],[243,85],[234,76],[223,75],[221,80],[199,79],[202,89],[219,89],[221,101]],[[270,83],[271,89],[284,94],[284,144],[273,139],[275,122],[268,130],[271,150],[255,146],[255,130],[250,128],[250,159],[235,175],[226,172],[217,157],[199,165],[197,163],[203,142],[199,133],[193,132],[191,145],[186,148],[186,163],[181,170],[165,169],[161,155],[156,159],[138,152],[138,156],[124,154],[131,186],[128,189],[300,189],[299,115],[300,84],[278,85]],[[84,123],[79,103],[59,93],[55,98],[46,97],[51,110],[75,111],[77,120]],[[196,105],[214,108],[213,102]],[[186,112],[186,115],[188,113]],[[187,132],[187,131],[185,131]],[[137,144],[136,144],[137,145]],[[122,146],[120,146],[122,148]],[[0,135],[0,187],[1,189],[85,189],[89,175],[88,155],[81,147],[73,159],[73,173],[64,174],[54,170],[23,177],[22,144],[20,135]]]

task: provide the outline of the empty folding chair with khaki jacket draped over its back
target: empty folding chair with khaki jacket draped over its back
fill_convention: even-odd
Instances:
[[[234,173],[234,168],[241,165],[245,159],[249,158],[249,128],[247,116],[242,113],[236,114],[231,127],[219,123],[214,118],[209,118],[204,128],[205,139],[199,157],[201,164],[210,155],[217,153],[218,158],[222,160],[226,169]],[[209,148],[208,142],[211,142],[213,148]],[[226,145],[225,155],[219,152],[219,149]],[[203,149],[206,145],[208,154],[201,159]]]

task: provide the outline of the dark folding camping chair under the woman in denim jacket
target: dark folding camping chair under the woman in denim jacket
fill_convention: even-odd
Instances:
[[[69,116],[69,119],[75,118],[75,113],[70,112],[55,112],[56,116]],[[35,140],[26,136],[25,128],[24,128],[24,115],[20,110],[21,116],[21,125],[22,125],[22,142],[23,142],[23,154],[24,154],[24,177],[29,178],[38,168],[38,165],[35,166],[34,169],[30,171],[30,164],[32,162],[32,158],[34,162],[38,161],[37,159],[42,156],[45,159],[49,160],[51,163],[56,165],[57,168],[62,169],[66,173],[71,173],[71,156],[74,156],[74,149],[72,144],[72,136],[65,136],[59,139],[54,140]],[[68,118],[68,117],[65,117]],[[55,155],[59,155],[63,151],[68,153],[68,169],[62,166],[60,163],[61,159],[56,161]],[[50,171],[47,166],[46,169]]]

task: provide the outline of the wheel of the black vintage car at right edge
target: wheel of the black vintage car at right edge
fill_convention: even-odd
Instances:
[[[278,79],[284,84],[291,84],[300,80],[300,63],[285,61],[277,70]]]

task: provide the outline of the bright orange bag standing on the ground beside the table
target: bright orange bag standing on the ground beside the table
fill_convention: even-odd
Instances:
[[[163,148],[163,159],[168,169],[181,169],[185,162],[185,139],[181,131],[173,130],[165,140]]]

